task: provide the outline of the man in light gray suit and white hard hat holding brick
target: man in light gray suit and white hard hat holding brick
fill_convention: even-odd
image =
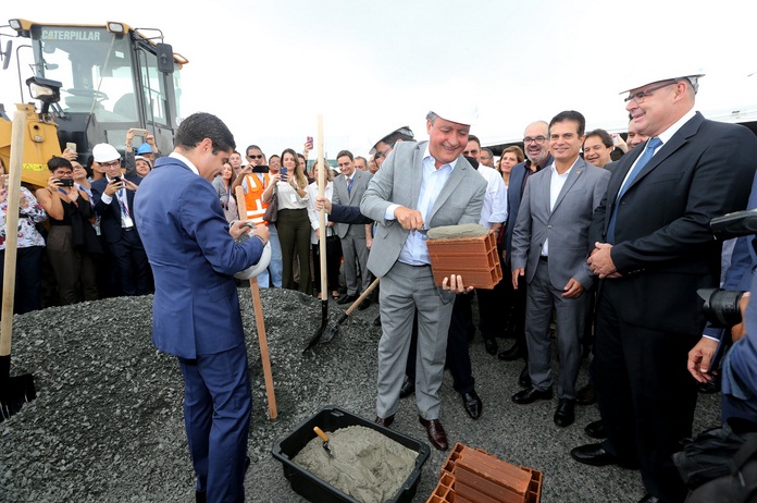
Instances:
[[[464,287],[459,275],[446,278],[442,287],[434,284],[426,236],[418,231],[477,222],[486,181],[462,157],[473,111],[437,110],[426,115],[429,142],[395,144],[360,211],[381,223],[368,259],[368,268],[382,279],[376,422],[394,421],[418,310],[418,413],[431,443],[444,451],[447,434],[438,418],[447,332],[455,294],[472,287]]]

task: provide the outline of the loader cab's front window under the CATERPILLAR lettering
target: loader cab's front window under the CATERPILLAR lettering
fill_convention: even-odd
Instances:
[[[138,120],[128,36],[104,28],[35,26],[37,74],[63,83],[64,112],[94,113],[99,122]]]

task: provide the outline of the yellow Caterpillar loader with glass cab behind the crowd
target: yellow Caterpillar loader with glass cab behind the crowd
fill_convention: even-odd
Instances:
[[[47,161],[66,148],[75,149],[82,164],[99,143],[123,151],[129,128],[154,135],[161,151],[173,150],[174,128],[181,121],[179,70],[188,61],[163,44],[160,29],[116,22],[74,25],[10,20],[0,26],[3,70],[10,66],[14,42],[21,95],[16,109],[26,114],[23,182],[47,185]],[[29,66],[30,76],[23,72]],[[25,94],[38,100],[40,108],[25,101]],[[0,103],[0,159],[5,167],[11,148],[9,115],[11,110]],[[137,133],[134,147],[145,137],[144,132]]]

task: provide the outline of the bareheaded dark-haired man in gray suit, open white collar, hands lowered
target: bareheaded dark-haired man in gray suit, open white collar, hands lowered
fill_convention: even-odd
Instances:
[[[557,320],[560,375],[559,405],[555,424],[569,426],[575,419],[575,378],[581,365],[581,338],[592,272],[588,228],[594,209],[607,189],[610,173],[579,157],[586,121],[575,111],[560,112],[549,123],[549,149],[555,162],[535,173],[523,193],[512,234],[512,285],[525,275],[525,341],[529,347],[531,388],[512,401],[530,404],[551,400],[549,321]]]

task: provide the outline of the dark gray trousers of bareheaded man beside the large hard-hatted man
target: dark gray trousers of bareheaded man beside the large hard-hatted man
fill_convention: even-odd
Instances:
[[[529,346],[529,376],[533,387],[547,390],[553,385],[549,322],[553,309],[557,321],[557,353],[560,373],[557,396],[575,398],[575,378],[581,367],[581,336],[586,320],[590,297],[586,292],[578,298],[562,297],[562,290],[549,282],[548,263],[538,261],[534,279],[526,289],[525,343]]]

